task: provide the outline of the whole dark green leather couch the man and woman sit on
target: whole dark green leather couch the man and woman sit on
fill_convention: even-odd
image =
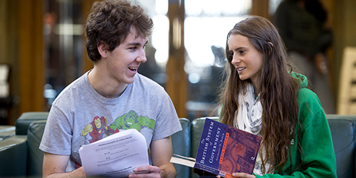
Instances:
[[[43,152],[38,149],[48,112],[25,112],[16,121],[16,135],[0,141],[0,177],[41,177]],[[209,117],[217,120],[217,117]],[[333,136],[337,177],[355,177],[356,115],[327,115]],[[179,118],[183,130],[172,135],[173,153],[195,157],[205,117]],[[27,130],[27,132],[24,132]],[[0,131],[1,132],[1,131]],[[174,164],[177,177],[197,177],[192,169]]]

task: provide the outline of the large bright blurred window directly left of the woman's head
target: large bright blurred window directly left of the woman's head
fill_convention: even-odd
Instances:
[[[184,70],[189,80],[189,118],[210,115],[216,108],[217,89],[226,63],[227,33],[242,16],[250,14],[251,5],[251,0],[185,1]]]

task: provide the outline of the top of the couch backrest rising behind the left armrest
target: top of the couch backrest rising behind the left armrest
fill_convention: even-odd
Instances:
[[[33,121],[47,120],[48,112],[23,112],[16,120],[16,135],[27,135],[28,126]]]

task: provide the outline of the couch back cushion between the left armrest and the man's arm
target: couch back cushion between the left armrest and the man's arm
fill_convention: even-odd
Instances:
[[[27,175],[42,177],[43,151],[39,150],[46,120],[38,120],[32,122],[28,126],[27,142],[28,142],[28,167]]]

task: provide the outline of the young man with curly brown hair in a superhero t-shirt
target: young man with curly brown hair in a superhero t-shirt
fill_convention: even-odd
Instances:
[[[127,1],[93,4],[85,28],[94,68],[53,102],[40,145],[43,177],[85,177],[79,148],[129,128],[145,136],[152,162],[129,177],[175,177],[169,160],[170,135],[182,130],[177,112],[164,88],[137,73],[147,61],[152,26],[143,9]]]

